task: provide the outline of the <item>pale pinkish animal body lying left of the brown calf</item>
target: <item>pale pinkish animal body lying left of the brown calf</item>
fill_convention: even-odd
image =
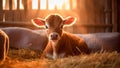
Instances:
[[[47,45],[45,31],[31,30],[21,27],[1,28],[10,39],[10,47],[31,49],[42,52]]]

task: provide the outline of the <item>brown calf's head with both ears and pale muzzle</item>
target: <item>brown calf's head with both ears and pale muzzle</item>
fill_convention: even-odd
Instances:
[[[45,19],[32,19],[32,23],[37,27],[45,27],[49,40],[57,41],[62,36],[63,27],[74,24],[75,20],[76,18],[74,17],[67,17],[63,19],[61,15],[53,14],[48,15]]]

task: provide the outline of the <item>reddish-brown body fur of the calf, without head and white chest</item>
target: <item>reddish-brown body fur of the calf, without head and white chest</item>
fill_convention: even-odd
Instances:
[[[52,47],[52,44],[49,41],[47,47],[45,48],[42,54],[42,57],[47,57],[46,54],[50,54],[52,56],[53,49],[54,48]],[[58,55],[57,58],[79,55],[81,53],[89,54],[89,49],[85,41],[67,32],[63,33],[55,49]]]

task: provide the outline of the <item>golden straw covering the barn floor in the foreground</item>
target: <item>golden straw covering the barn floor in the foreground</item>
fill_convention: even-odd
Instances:
[[[40,59],[40,54],[25,49],[10,49],[0,68],[119,68],[120,53],[94,53],[57,60]]]

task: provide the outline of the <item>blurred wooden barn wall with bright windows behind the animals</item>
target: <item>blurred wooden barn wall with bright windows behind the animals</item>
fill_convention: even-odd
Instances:
[[[59,13],[77,22],[71,33],[120,32],[120,0],[0,0],[0,27],[37,29],[31,19]]]

